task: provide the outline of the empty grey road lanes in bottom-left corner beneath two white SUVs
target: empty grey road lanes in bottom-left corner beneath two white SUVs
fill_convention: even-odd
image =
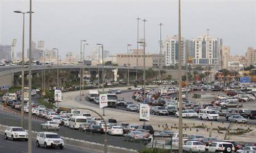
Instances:
[[[24,140],[15,140],[4,139],[4,133],[0,133],[0,152],[4,153],[25,153],[28,152],[28,142]],[[43,148],[36,147],[35,139],[32,139],[32,152],[36,153],[98,153],[92,150],[75,148],[72,146],[65,145],[61,150],[59,148]]]

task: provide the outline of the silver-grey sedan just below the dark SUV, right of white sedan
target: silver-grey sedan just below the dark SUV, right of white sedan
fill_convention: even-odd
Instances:
[[[123,135],[123,140],[131,142],[144,141],[147,140],[147,137],[140,131],[131,131]]]

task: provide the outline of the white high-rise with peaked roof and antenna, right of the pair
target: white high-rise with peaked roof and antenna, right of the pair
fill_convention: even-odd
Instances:
[[[218,38],[202,35],[192,39],[192,58],[195,65],[218,65]]]

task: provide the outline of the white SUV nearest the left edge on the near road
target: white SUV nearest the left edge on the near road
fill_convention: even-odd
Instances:
[[[23,127],[9,126],[5,130],[5,139],[11,138],[11,140],[24,139],[28,141],[28,133]]]

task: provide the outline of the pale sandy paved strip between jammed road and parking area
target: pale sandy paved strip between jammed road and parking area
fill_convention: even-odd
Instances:
[[[120,87],[118,89],[125,90],[127,87]],[[132,87],[134,89],[134,87]],[[108,90],[106,88],[105,90]],[[94,111],[102,114],[102,109],[96,107],[96,105],[91,104],[87,101],[84,100],[84,97],[88,95],[88,90],[84,91],[84,96],[82,96],[82,101],[79,100],[79,91],[73,91],[73,92],[65,92],[62,93],[63,95],[63,101],[59,103],[60,107],[67,107],[67,108],[88,108],[88,109],[93,109]],[[213,95],[214,96],[214,95]],[[212,98],[212,96],[210,96]],[[194,100],[191,99],[191,100]],[[203,100],[203,99],[198,99],[198,100]],[[195,99],[195,101],[197,101]],[[89,112],[86,110],[83,110],[82,112],[87,112],[92,114],[92,116],[98,116],[94,114],[93,112]],[[112,108],[106,108],[105,109],[105,119],[108,118],[113,118],[117,119],[118,122],[128,122],[128,123],[133,123],[133,124],[143,124],[142,121],[139,121],[139,114],[135,112],[126,112],[126,111],[121,111],[117,109],[112,109]],[[211,124],[212,123],[212,124]],[[146,122],[146,124],[151,124],[155,130],[163,130],[163,127],[167,124],[168,129],[171,131],[178,132],[178,118],[170,118],[166,116],[155,116],[151,115],[150,116],[150,121]],[[218,128],[220,127],[228,127],[229,123],[222,123],[222,122],[216,122],[216,121],[201,121],[201,120],[191,120],[191,119],[184,119],[183,118],[183,126],[186,127],[186,129],[183,129],[183,133],[186,134],[199,134],[199,135],[204,135],[205,137],[209,137],[210,132],[212,133],[212,137],[216,137],[218,139],[224,139],[225,137],[225,131],[223,131],[222,134],[218,133],[216,130],[209,130],[207,131],[207,128],[202,129],[202,128],[193,128],[193,126],[202,126],[205,125],[207,128],[213,129],[213,128]],[[173,127],[173,128],[172,128]],[[176,128],[177,129],[176,129]],[[247,128],[247,127],[244,127]],[[230,140],[235,140],[235,141],[243,141],[243,142],[250,142],[252,141],[251,136],[255,136],[255,127],[251,126],[250,127],[253,131],[248,133],[247,135],[242,135],[243,139],[241,140],[241,135],[240,136],[228,136]]]

